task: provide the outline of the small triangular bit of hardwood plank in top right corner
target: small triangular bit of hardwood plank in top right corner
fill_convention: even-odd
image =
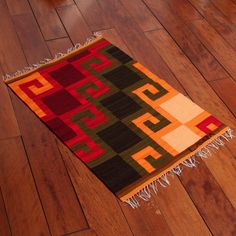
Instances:
[[[215,7],[221,11],[224,16],[233,24],[236,23],[236,5],[231,0],[214,0],[212,1]]]

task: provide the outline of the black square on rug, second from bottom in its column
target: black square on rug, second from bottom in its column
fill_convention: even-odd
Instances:
[[[125,151],[142,140],[120,121],[98,132],[97,135],[117,153]]]

